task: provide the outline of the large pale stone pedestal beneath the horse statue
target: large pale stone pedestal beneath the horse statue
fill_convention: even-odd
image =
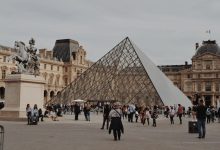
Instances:
[[[5,79],[5,107],[0,111],[1,120],[26,117],[26,105],[43,108],[44,84],[42,77],[26,74],[11,74]]]

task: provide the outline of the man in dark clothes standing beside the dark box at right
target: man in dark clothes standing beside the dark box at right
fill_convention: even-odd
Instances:
[[[205,128],[205,120],[206,120],[206,106],[203,103],[203,100],[199,101],[199,106],[196,110],[196,118],[198,121],[198,138],[205,138],[206,128]]]

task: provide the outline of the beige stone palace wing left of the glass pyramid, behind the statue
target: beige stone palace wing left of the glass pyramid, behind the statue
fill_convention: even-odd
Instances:
[[[5,97],[4,79],[17,70],[14,60],[8,57],[14,48],[0,45],[0,98]],[[39,49],[40,76],[45,79],[44,102],[57,95],[64,87],[82,74],[92,62],[86,59],[86,51],[75,40],[56,40],[53,50]]]

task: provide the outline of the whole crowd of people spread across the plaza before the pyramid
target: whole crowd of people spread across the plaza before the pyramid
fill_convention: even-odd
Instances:
[[[138,106],[135,104],[122,105],[119,102],[97,103],[96,105],[91,105],[88,102],[75,102],[71,105],[52,104],[46,107],[44,114],[41,109],[37,108],[36,104],[33,108],[31,108],[29,104],[27,104],[26,107],[28,124],[33,124],[35,122],[34,120],[38,122],[40,118],[41,121],[43,121],[44,117],[49,117],[53,121],[57,121],[58,116],[67,114],[74,114],[75,120],[79,120],[79,114],[84,114],[85,120],[90,121],[90,112],[93,111],[98,114],[97,111],[100,110],[103,113],[101,129],[105,129],[106,126],[109,134],[113,131],[115,141],[121,139],[121,133],[124,133],[122,120],[126,119],[129,123],[140,122],[143,125],[147,123],[147,126],[152,125],[153,127],[157,127],[159,115],[164,115],[165,118],[169,118],[171,125],[174,125],[175,117],[178,118],[179,124],[181,125],[183,123],[182,117],[187,116],[197,120],[199,138],[205,138],[206,123],[215,122],[217,120],[216,118],[218,118],[218,122],[220,123],[220,108],[206,107],[202,100],[199,105],[189,107],[187,110],[181,104],[165,107],[158,107],[155,105],[150,107]]]

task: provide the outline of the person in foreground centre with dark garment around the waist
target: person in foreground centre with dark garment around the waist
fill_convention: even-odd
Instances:
[[[115,141],[121,139],[121,132],[124,133],[124,127],[121,121],[122,110],[119,108],[119,106],[120,104],[116,102],[109,113],[109,118],[111,119],[109,134],[111,134],[111,130],[113,130]]]

